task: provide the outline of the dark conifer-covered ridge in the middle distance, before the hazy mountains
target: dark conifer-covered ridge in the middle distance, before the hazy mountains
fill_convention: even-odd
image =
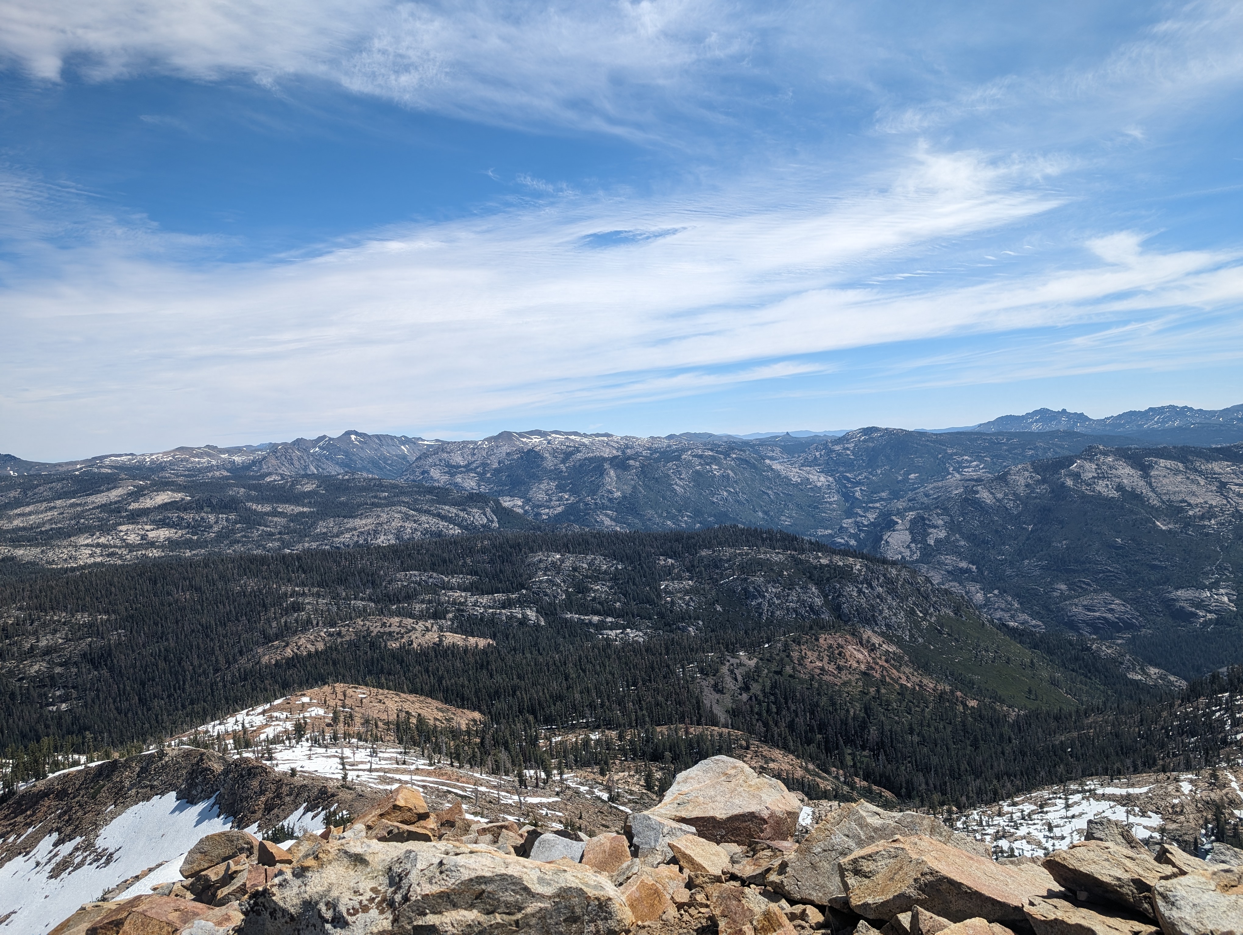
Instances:
[[[491,534],[34,572],[0,586],[2,743],[37,770],[353,680],[496,724],[726,725],[925,803],[1163,754],[1086,643],[759,530]],[[1095,725],[1095,726],[1093,726]]]

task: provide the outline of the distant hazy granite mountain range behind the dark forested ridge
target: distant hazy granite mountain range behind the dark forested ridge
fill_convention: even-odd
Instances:
[[[1151,447],[1145,436],[1241,418],[1243,406],[1105,420],[1038,410],[957,432],[351,431],[58,464],[0,456],[0,556],[73,565],[740,524],[911,564],[994,620],[1090,635],[1193,678],[1243,662],[1243,446]]]

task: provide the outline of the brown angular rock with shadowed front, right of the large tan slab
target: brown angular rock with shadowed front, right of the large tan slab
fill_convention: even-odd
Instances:
[[[1065,851],[1054,851],[1042,865],[1071,893],[1086,893],[1090,899],[1116,903],[1149,916],[1152,887],[1182,873],[1158,864],[1146,852],[1104,841],[1080,841]]]

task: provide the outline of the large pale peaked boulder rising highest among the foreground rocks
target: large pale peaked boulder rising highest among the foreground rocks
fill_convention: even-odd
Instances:
[[[788,841],[803,803],[784,785],[741,760],[710,756],[677,774],[648,815],[689,824],[705,841]]]

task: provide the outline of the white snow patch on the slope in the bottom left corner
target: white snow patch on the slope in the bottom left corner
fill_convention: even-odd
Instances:
[[[168,792],[119,812],[93,848],[75,853],[80,841],[48,834],[31,853],[0,867],[0,931],[41,935],[82,903],[180,857],[204,834],[230,827],[215,797],[190,805]]]

